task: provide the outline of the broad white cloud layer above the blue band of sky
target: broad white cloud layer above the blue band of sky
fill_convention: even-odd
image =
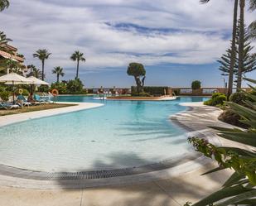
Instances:
[[[27,64],[40,65],[32,58],[35,50],[51,51],[46,62],[50,73],[56,65],[74,67],[69,59],[74,50],[85,53],[87,69],[123,67],[130,61],[212,63],[229,45],[225,35],[232,12],[233,2],[223,0],[207,5],[198,0],[16,0],[0,16],[1,29],[26,55]],[[246,19],[252,21],[253,14],[246,12]],[[123,30],[114,26],[118,23],[154,30]]]

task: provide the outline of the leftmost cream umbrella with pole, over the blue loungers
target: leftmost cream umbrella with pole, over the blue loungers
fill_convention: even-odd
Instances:
[[[16,73],[5,74],[0,77],[0,82],[12,85],[12,98],[14,103],[14,84],[31,84],[31,80]]]

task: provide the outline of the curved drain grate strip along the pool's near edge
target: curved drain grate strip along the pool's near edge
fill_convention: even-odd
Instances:
[[[126,175],[138,175],[156,170],[165,170],[175,165],[186,163],[187,161],[198,158],[197,153],[186,154],[178,159],[164,160],[150,165],[142,165],[138,167],[121,168],[114,170],[95,170],[95,171],[80,171],[80,172],[43,172],[33,170],[23,170],[20,168],[0,165],[0,175],[8,175],[23,179],[31,180],[93,180],[103,179]]]

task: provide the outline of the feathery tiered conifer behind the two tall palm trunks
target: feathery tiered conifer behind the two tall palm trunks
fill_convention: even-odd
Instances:
[[[237,29],[236,40],[239,42],[239,26]],[[243,55],[243,68],[242,68],[242,76],[244,74],[249,73],[256,69],[256,55],[252,54],[251,51],[254,50],[254,46],[251,46],[249,31],[244,26],[244,55]],[[236,48],[236,54],[239,53],[238,46]],[[230,62],[231,62],[231,49],[226,50],[226,54],[222,55],[220,60],[220,71],[222,71],[222,75],[229,75]],[[234,75],[238,78],[239,72],[239,60],[237,56],[235,56],[235,64],[234,64]],[[237,82],[236,80],[235,82]]]

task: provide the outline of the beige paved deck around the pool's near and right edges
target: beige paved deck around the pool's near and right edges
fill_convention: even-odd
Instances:
[[[206,134],[214,133],[207,128],[208,125],[229,127],[229,125],[217,120],[217,116],[220,114],[219,109],[201,106],[198,103],[190,106],[193,107],[193,110],[177,114],[176,117],[172,117],[173,121],[191,131],[200,131],[201,134],[204,132]],[[226,145],[230,142],[220,139],[219,143]],[[186,171],[183,175],[174,175],[164,180],[96,189],[36,190],[2,186],[0,187],[0,203],[8,206],[183,205],[186,201],[195,202],[220,188],[221,184],[228,178],[229,170],[211,175],[200,175],[215,166],[213,163],[202,165],[198,170]],[[0,184],[1,182],[0,177]],[[12,185],[15,186],[15,182]]]

